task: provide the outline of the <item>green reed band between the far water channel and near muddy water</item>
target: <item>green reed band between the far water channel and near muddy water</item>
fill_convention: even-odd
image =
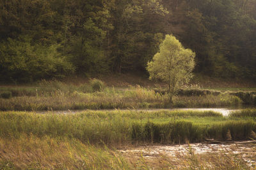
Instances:
[[[255,111],[255,110],[254,110]],[[205,138],[225,141],[249,139],[256,132],[252,118],[222,117],[211,111],[85,111],[57,115],[2,112],[0,137],[74,138],[83,143],[123,146],[135,143],[200,142]]]

